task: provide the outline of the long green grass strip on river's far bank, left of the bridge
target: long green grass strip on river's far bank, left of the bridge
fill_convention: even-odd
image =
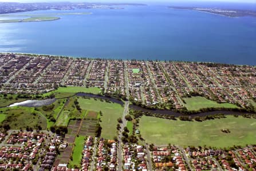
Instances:
[[[85,93],[94,93],[98,94],[101,92],[100,88],[98,87],[58,87],[58,89],[44,93],[43,96],[49,96],[54,93],[56,98],[64,98],[64,97],[70,97],[78,92],[85,92]]]

